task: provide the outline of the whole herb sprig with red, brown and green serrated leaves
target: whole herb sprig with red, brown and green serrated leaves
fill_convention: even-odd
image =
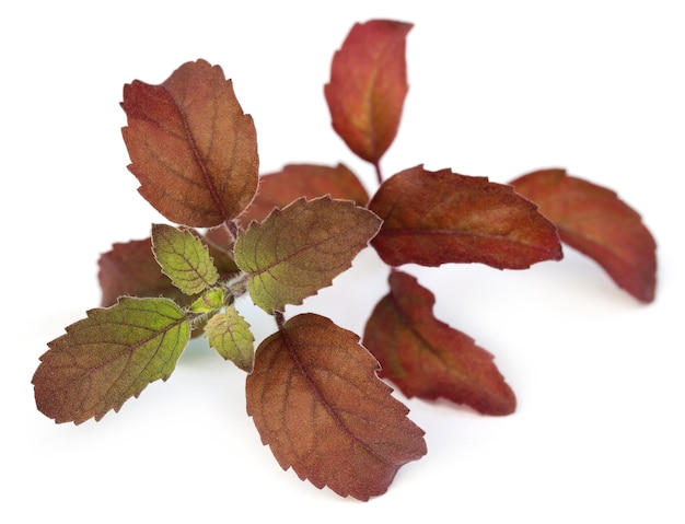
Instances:
[[[372,195],[344,164],[259,174],[254,121],[218,66],[187,62],[162,84],[124,88],[129,171],[171,223],[101,256],[102,306],[48,342],[33,376],[43,414],[100,420],[166,380],[188,341],[204,336],[246,372],[247,412],[281,467],[369,500],[427,452],[387,382],[407,397],[484,415],[516,405],[492,354],[437,318],[432,292],[403,266],[525,269],[560,260],[566,244],[638,301],[654,300],[654,240],[605,187],[561,168],[510,184],[422,165],[385,176],[381,159],[408,90],[410,28],[355,25],[324,88],[333,129],[375,173]],[[330,286],[365,248],[388,272],[363,334],[315,313],[288,317],[288,305]],[[272,335],[256,343],[241,300],[272,315]]]

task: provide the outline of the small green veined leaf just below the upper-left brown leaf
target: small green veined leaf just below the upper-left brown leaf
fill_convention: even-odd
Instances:
[[[219,279],[207,247],[187,230],[153,224],[152,251],[162,271],[185,294],[205,291]]]

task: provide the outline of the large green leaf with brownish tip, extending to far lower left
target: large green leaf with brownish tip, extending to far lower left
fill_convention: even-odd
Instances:
[[[166,380],[190,336],[167,299],[121,299],[48,343],[33,376],[36,405],[56,422],[81,423],[118,411],[148,384]]]

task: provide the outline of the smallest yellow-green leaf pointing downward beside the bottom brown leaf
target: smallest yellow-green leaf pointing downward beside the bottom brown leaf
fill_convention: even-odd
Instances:
[[[230,360],[241,370],[252,372],[255,354],[255,338],[249,324],[232,305],[225,312],[217,313],[205,327],[209,346],[225,360]]]

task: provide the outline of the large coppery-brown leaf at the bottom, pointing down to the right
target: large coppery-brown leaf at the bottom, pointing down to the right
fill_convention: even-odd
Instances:
[[[247,376],[247,412],[283,469],[368,500],[426,454],[423,431],[378,369],[357,335],[311,313],[262,342]]]

